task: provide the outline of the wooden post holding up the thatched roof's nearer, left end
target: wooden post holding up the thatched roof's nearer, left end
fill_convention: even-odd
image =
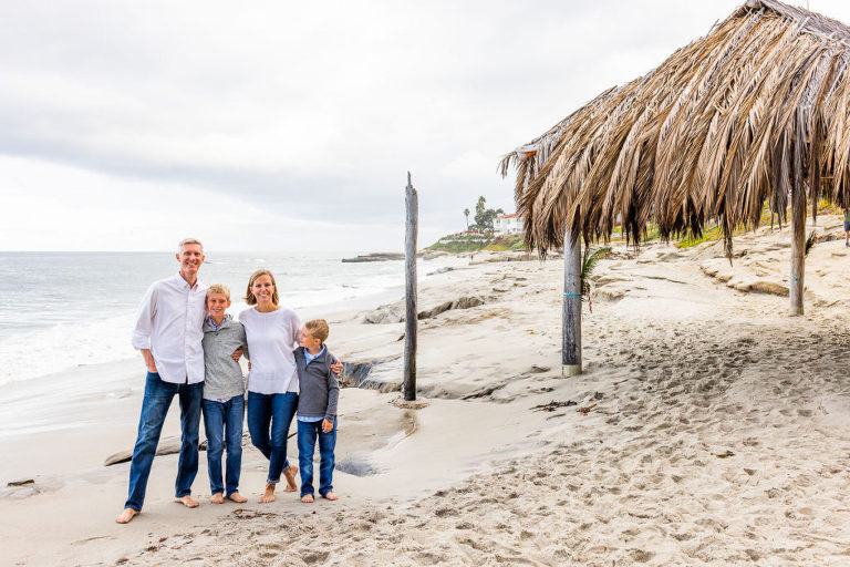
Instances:
[[[563,347],[564,377],[581,374],[581,237],[563,237]]]

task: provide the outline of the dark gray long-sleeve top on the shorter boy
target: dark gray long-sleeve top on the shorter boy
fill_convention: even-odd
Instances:
[[[336,417],[336,402],[340,399],[340,382],[331,371],[331,364],[336,358],[328,349],[317,358],[307,362],[304,349],[294,350],[298,380],[301,393],[298,395],[298,414],[302,417],[324,417],[333,421]]]

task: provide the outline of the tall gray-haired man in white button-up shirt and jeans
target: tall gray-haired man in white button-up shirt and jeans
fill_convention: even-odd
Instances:
[[[191,497],[191,483],[198,472],[204,394],[201,340],[207,288],[198,282],[204,246],[187,238],[177,246],[175,256],[179,274],[148,288],[133,332],[133,347],[142,352],[147,367],[147,381],[129,466],[129,495],[124,512],[115,518],[118,524],[128,523],[142,512],[159,433],[175,395],[180,403],[182,444],[174,501],[189,508],[198,505]]]

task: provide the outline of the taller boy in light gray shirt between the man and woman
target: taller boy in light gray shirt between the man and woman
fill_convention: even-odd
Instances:
[[[245,327],[226,313],[230,307],[230,290],[216,284],[207,288],[207,310],[204,321],[204,429],[207,432],[207,466],[209,468],[209,501],[222,504],[225,496],[243,503],[239,494],[242,467],[242,421],[245,417],[245,378],[239,363],[231,357],[242,349],[248,354]],[[227,445],[227,492],[221,480],[221,454]]]

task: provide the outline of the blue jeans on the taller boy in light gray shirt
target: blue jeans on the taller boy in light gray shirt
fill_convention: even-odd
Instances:
[[[204,400],[204,429],[207,432],[207,467],[210,494],[221,494],[221,455],[227,445],[227,496],[239,492],[242,468],[242,422],[245,398],[236,395],[226,402]]]

